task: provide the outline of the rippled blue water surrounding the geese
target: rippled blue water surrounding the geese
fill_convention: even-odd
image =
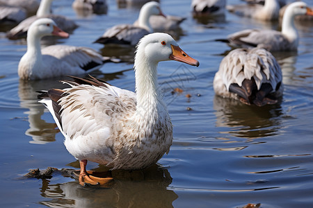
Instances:
[[[54,1],[54,13],[79,28],[61,44],[89,46],[105,29],[137,18],[138,8],[119,9],[109,0],[107,15],[81,17],[72,1]],[[232,1],[240,3],[240,1]],[[313,3],[312,1],[307,3]],[[159,64],[159,83],[172,118],[174,141],[158,164],[141,171],[115,172],[110,189],[80,187],[61,174],[49,180],[23,177],[31,168],[79,168],[67,152],[51,115],[37,103],[36,90],[65,87],[60,78],[25,82],[17,76],[24,41],[0,33],[0,206],[1,207],[261,207],[313,206],[313,27],[297,23],[298,53],[278,53],[284,96],[276,105],[255,107],[214,96],[212,82],[223,53],[216,38],[244,28],[279,28],[226,13],[220,21],[191,17],[189,1],[162,1],[163,12],[187,17],[178,43],[200,62]],[[115,51],[129,59],[134,51]],[[112,85],[134,90],[132,64],[106,64],[92,73]],[[172,94],[179,87],[181,94]],[[187,98],[186,94],[191,97]],[[200,95],[200,96],[199,96]],[[187,108],[189,110],[187,110]],[[88,169],[103,167],[88,163]]]

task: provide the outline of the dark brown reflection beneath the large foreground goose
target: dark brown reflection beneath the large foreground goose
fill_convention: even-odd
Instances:
[[[40,202],[47,207],[172,207],[177,194],[168,190],[172,177],[157,166],[138,171],[113,171],[111,188],[81,187],[78,182],[49,184],[42,180]]]

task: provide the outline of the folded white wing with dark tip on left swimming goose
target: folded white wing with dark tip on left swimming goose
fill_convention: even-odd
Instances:
[[[42,49],[42,55],[54,56],[71,67],[80,67],[85,71],[97,69],[106,61],[93,49],[67,45],[47,46]]]

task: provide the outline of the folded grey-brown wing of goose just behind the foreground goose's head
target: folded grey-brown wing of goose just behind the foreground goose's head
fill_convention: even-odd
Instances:
[[[136,45],[141,37],[149,34],[144,28],[130,24],[120,24],[109,28],[102,37],[95,42],[101,44],[130,44]]]

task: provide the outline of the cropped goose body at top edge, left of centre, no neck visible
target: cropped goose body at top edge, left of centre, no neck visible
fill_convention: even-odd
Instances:
[[[106,14],[108,4],[106,0],[74,0],[72,3],[74,10],[88,10],[95,14]]]

